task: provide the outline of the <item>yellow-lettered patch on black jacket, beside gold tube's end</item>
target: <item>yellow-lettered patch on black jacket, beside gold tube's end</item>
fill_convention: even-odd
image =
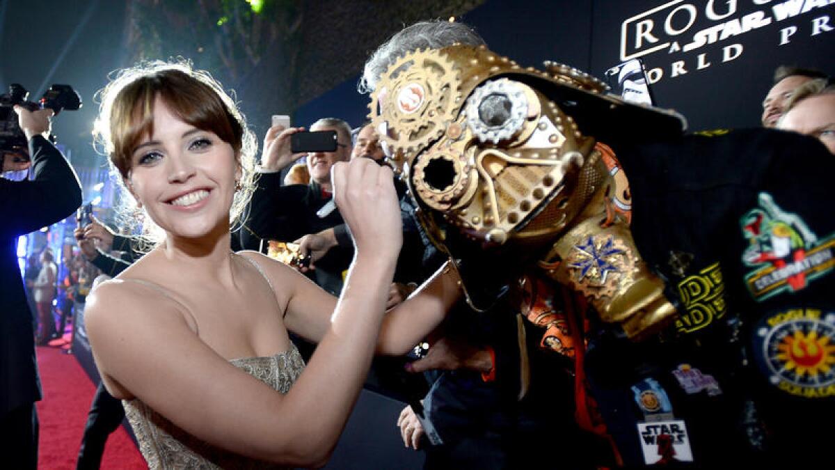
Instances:
[[[676,319],[676,330],[692,333],[725,316],[725,283],[719,263],[682,279],[676,287],[684,306]]]

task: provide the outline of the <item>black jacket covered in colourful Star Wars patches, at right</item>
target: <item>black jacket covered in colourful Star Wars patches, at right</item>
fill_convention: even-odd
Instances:
[[[656,411],[637,397],[650,379],[686,422],[696,466],[822,462],[797,449],[826,448],[835,419],[835,157],[762,129],[615,152],[635,245],[679,309],[662,340],[601,337],[586,356],[625,462],[643,463],[636,426]]]

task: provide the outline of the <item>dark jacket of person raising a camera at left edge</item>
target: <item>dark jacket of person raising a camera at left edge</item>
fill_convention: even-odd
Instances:
[[[0,178],[0,413],[41,398],[32,313],[18,268],[18,237],[72,214],[81,205],[73,168],[48,140],[29,140],[32,181]]]

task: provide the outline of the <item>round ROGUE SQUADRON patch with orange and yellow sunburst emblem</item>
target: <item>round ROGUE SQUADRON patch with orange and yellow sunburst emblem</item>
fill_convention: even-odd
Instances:
[[[754,333],[754,360],[772,386],[794,396],[835,396],[835,313],[784,309]]]

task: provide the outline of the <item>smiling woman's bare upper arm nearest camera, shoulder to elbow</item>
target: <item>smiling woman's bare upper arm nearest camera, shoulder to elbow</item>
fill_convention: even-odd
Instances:
[[[179,304],[132,284],[100,284],[85,309],[96,365],[115,397],[137,398],[190,435],[247,457],[298,467],[326,460],[341,427],[320,432],[317,408],[347,409],[352,397],[311,400],[301,379],[315,367],[287,395],[276,393],[200,340]]]

